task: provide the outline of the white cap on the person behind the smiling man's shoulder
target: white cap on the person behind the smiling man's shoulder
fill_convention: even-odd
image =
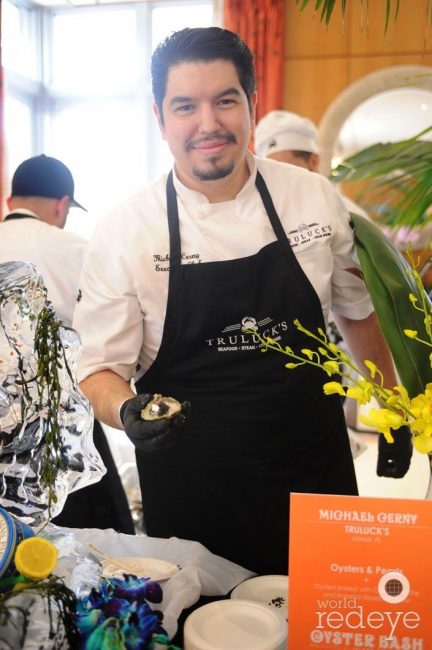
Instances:
[[[255,151],[266,157],[279,151],[318,153],[317,128],[307,117],[289,111],[270,111],[255,128]]]

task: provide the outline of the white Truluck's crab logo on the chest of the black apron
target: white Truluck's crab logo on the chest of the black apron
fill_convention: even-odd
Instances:
[[[273,324],[272,324],[273,323]],[[286,332],[288,324],[286,321],[274,323],[274,319],[267,316],[257,320],[254,316],[244,316],[240,323],[227,325],[220,334],[206,339],[206,345],[216,352],[247,352],[260,347],[260,342],[253,334],[246,333],[246,330],[259,332],[263,338],[270,337],[279,341],[282,332]]]

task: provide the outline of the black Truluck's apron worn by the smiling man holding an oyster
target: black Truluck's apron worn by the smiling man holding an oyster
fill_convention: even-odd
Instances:
[[[176,443],[136,450],[146,531],[196,540],[256,573],[288,572],[289,493],[357,494],[340,399],[322,370],[285,368],[242,326],[312,349],[294,319],[324,328],[260,174],[256,186],[277,241],[227,262],[181,264],[177,197],[167,181],[170,270],[158,355],[137,382],[192,405]],[[245,237],[248,233],[245,232]]]

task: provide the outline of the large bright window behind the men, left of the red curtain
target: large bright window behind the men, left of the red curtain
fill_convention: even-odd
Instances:
[[[103,214],[171,166],[152,112],[151,52],[212,15],[211,0],[30,9],[3,0],[8,179],[31,155],[61,159],[89,211],[71,210],[67,228],[90,237]]]

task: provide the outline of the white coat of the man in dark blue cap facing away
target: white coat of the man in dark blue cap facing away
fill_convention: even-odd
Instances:
[[[30,218],[18,217],[0,223],[0,263],[34,264],[42,274],[48,300],[57,317],[70,326],[88,242],[42,221],[30,210],[18,209],[9,214],[15,213]]]

